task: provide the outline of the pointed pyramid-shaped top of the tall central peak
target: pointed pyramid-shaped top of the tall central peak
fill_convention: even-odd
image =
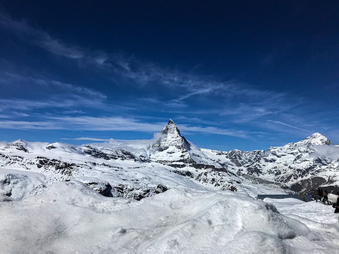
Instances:
[[[176,147],[180,150],[190,150],[190,143],[184,136],[180,135],[180,130],[175,125],[172,119],[169,119],[167,126],[165,126],[161,132],[164,137],[161,137],[157,144],[154,144],[151,148],[160,148],[166,150],[169,147]]]

